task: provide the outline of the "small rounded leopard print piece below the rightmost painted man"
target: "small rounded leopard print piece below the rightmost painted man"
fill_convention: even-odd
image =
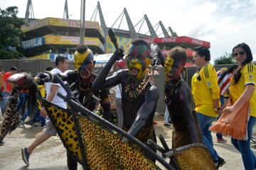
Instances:
[[[214,170],[213,159],[205,147],[191,147],[176,154],[176,161],[181,170]]]

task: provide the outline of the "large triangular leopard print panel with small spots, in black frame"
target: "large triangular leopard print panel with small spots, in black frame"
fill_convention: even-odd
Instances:
[[[110,130],[82,116],[79,124],[90,169],[159,169]]]

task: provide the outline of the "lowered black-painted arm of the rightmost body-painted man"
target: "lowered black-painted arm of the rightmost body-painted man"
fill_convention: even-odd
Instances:
[[[181,88],[184,88],[184,86],[181,86]],[[198,130],[196,128],[196,122],[193,118],[193,108],[191,108],[188,105],[188,96],[186,94],[185,89],[179,89],[176,92],[176,98],[178,98],[179,107],[181,108],[181,116],[186,124],[186,128],[189,132],[189,137],[191,139],[191,142],[193,143],[199,143],[198,139]]]

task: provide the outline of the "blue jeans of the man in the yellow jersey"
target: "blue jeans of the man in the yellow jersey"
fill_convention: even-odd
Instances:
[[[203,115],[202,113],[197,113],[198,116],[198,123],[200,125],[202,131],[202,140],[203,144],[206,145],[208,151],[210,152],[211,157],[213,160],[217,161],[219,156],[215,149],[213,148],[213,137],[210,134],[210,126],[212,122],[216,120],[216,118],[210,117],[208,115]]]

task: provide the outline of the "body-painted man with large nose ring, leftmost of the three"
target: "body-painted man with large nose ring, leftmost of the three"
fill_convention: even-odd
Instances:
[[[110,118],[110,99],[107,95],[107,90],[95,91],[92,90],[92,83],[95,81],[97,74],[92,72],[94,67],[93,53],[85,45],[79,45],[76,48],[74,56],[75,72],[68,73],[69,84],[74,84],[71,89],[78,91],[77,97],[82,106],[93,111],[97,104],[97,98],[100,96],[100,104],[103,108],[103,118]],[[74,88],[75,87],[75,88]],[[77,169],[78,163],[73,159],[72,155],[67,152],[68,169]]]

